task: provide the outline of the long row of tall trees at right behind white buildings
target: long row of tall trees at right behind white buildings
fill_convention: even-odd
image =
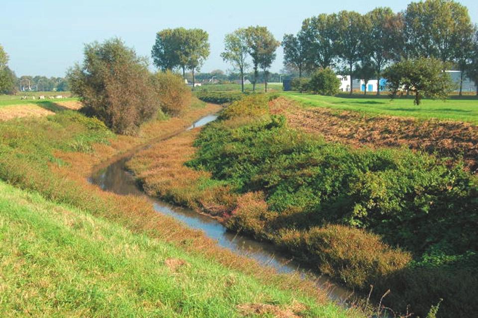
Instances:
[[[449,0],[412,2],[393,12],[377,7],[322,13],[303,21],[300,31],[282,40],[284,66],[299,77],[317,68],[335,68],[351,79],[379,79],[386,66],[408,59],[432,58],[478,83],[478,31],[466,6]]]

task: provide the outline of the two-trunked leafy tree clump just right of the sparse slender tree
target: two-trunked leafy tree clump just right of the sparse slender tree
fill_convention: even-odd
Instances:
[[[255,84],[260,67],[264,71],[265,91],[267,92],[268,69],[275,60],[275,50],[280,45],[280,42],[275,40],[272,33],[270,33],[265,26],[249,26],[245,32],[249,55],[252,57],[254,69],[252,91],[255,91]]]

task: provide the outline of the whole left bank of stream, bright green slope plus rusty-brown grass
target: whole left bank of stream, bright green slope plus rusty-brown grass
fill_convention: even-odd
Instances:
[[[96,164],[220,108],[196,107],[148,122],[134,137],[114,135],[74,111],[0,122],[0,179],[10,184],[0,184],[2,294],[10,295],[1,298],[2,312],[361,316],[329,302],[312,282],[276,275],[217,247],[145,199],[105,193],[87,182]]]

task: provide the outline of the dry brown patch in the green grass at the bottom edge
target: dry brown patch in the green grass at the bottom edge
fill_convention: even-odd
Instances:
[[[300,313],[307,308],[305,305],[294,302],[285,308],[269,304],[241,304],[238,305],[239,313],[244,317],[255,315],[273,315],[274,318],[300,318]]]

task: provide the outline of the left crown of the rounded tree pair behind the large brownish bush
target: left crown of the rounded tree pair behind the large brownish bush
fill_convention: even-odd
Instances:
[[[164,29],[156,33],[156,41],[151,50],[153,64],[160,70],[173,70],[179,66],[180,41],[175,29]]]

